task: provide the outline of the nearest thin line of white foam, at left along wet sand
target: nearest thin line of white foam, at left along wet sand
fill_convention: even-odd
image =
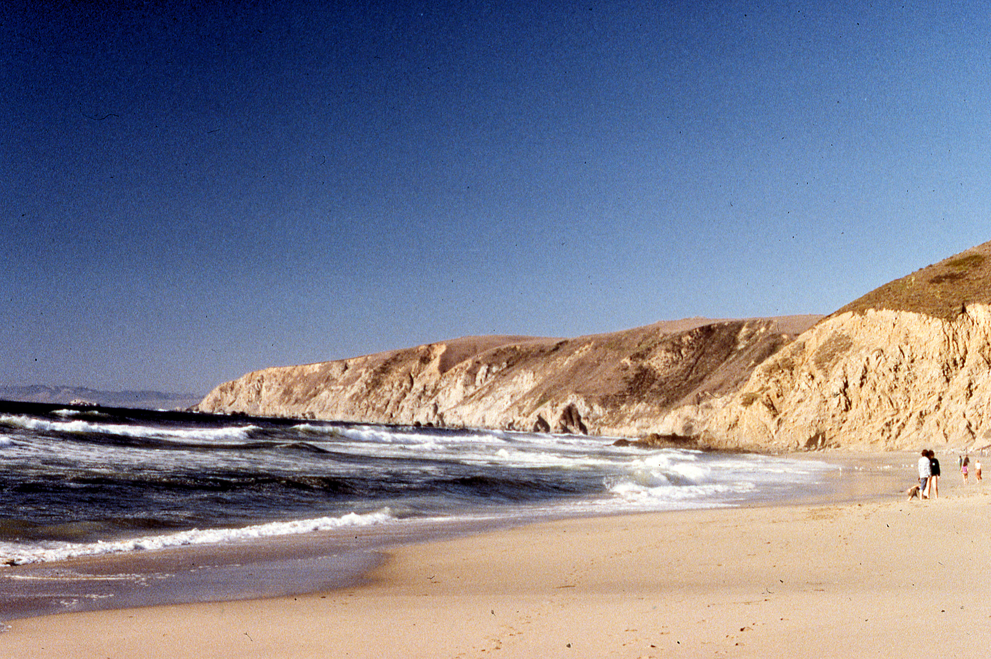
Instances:
[[[0,542],[0,562],[8,565],[22,565],[25,563],[65,560],[79,556],[116,554],[126,551],[155,551],[169,547],[219,544],[273,537],[276,535],[298,535],[301,533],[312,533],[314,531],[331,530],[342,526],[370,526],[393,521],[394,519],[391,512],[385,508],[376,513],[366,513],[364,515],[348,513],[339,518],[273,521],[265,524],[245,526],[243,528],[208,528],[203,530],[193,528],[177,533],[147,535],[124,540],[98,540],[91,543],[45,542],[22,545],[11,542]]]

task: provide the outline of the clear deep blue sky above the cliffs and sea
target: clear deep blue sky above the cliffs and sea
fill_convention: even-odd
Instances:
[[[0,385],[829,313],[991,239],[983,2],[43,4]]]

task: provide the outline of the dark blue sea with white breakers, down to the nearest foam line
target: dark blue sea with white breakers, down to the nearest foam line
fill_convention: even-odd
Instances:
[[[12,515],[57,527],[4,534],[17,540],[0,543],[0,562],[15,563],[394,518],[721,507],[804,492],[828,469],[582,435],[22,410],[0,414],[0,456]],[[343,516],[385,506],[391,513]],[[321,515],[343,517],[264,523]],[[68,534],[62,525],[85,523],[80,517],[106,528]],[[244,527],[209,528],[232,523]],[[207,529],[182,530],[194,525]],[[121,534],[147,535],[115,539]]]

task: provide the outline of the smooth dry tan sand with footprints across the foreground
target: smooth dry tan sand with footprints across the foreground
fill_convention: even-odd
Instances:
[[[569,519],[323,595],[17,620],[0,655],[985,656],[991,499],[947,472],[937,501]]]

